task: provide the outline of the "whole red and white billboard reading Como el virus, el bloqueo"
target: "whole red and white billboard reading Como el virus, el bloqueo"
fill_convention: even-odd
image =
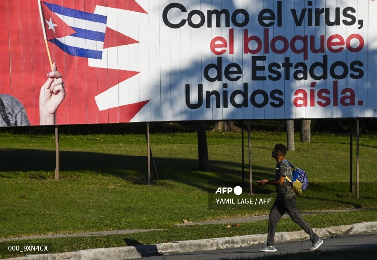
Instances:
[[[31,125],[50,124],[47,99],[59,125],[377,117],[376,13],[374,0],[2,0],[1,114],[16,120],[13,97]],[[46,47],[62,75],[51,97]]]

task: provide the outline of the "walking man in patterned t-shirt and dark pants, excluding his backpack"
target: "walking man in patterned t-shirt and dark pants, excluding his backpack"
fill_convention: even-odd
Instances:
[[[271,208],[269,213],[269,226],[267,234],[267,244],[266,246],[259,249],[261,252],[275,252],[275,232],[276,226],[280,218],[284,213],[292,218],[292,220],[298,224],[307,234],[310,235],[310,241],[312,246],[309,247],[310,250],[316,250],[319,248],[323,239],[319,238],[317,234],[314,233],[312,228],[306,223],[306,221],[298,213],[296,206],[296,195],[293,192],[292,185],[285,177],[292,179],[292,171],[288,162],[285,160],[285,154],[287,153],[287,147],[284,144],[276,144],[272,152],[272,157],[276,160],[277,165],[275,169],[275,181],[260,180],[257,181],[259,185],[273,185],[276,186],[277,198]]]

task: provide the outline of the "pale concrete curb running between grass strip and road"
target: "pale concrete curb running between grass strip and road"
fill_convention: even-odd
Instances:
[[[365,232],[376,232],[377,222],[365,222],[352,225],[335,226],[313,229],[320,237],[331,237],[334,235],[360,234]],[[7,260],[121,260],[141,258],[153,255],[166,255],[173,253],[188,253],[226,248],[237,248],[262,244],[266,241],[267,234],[244,235],[236,237],[223,237],[213,239],[179,241],[156,245],[125,246],[114,248],[88,249],[76,252],[30,255],[26,257],[9,258]],[[309,239],[304,231],[278,232],[275,235],[276,242],[286,242]]]

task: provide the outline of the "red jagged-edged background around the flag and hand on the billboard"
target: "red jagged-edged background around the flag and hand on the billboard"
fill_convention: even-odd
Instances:
[[[96,5],[145,13],[135,0],[47,0],[67,8],[94,12]],[[31,125],[39,125],[39,92],[51,71],[37,0],[0,1],[0,93],[17,98]],[[127,37],[107,28],[104,48],[128,44]],[[52,61],[63,74],[66,98],[57,124],[129,122],[148,101],[99,111],[94,97],[138,74],[135,71],[88,66],[88,59],[66,54],[49,42]]]

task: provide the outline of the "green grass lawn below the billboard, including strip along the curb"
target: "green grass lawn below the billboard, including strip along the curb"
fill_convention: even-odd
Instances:
[[[195,133],[152,134],[151,147],[159,178],[147,185],[147,148],[143,134],[61,134],[60,180],[54,180],[55,140],[51,134],[0,133],[0,239],[118,229],[163,229],[130,235],[49,240],[56,252],[135,244],[161,243],[242,234],[266,233],[267,223],[177,227],[175,224],[268,214],[259,208],[210,207],[208,188],[241,183],[241,134],[208,133],[210,170],[197,163]],[[252,133],[253,181],[273,179],[275,143],[285,133]],[[248,164],[247,136],[245,162]],[[350,193],[350,137],[312,134],[287,159],[308,171],[308,190],[297,198],[303,211],[377,208],[377,138],[360,138],[360,199]],[[354,144],[354,150],[356,146]],[[354,156],[355,158],[356,156]],[[356,163],[354,159],[356,180]],[[246,165],[248,169],[248,165]],[[153,172],[152,172],[153,176]],[[246,173],[246,187],[248,186]],[[356,184],[356,183],[354,183]],[[247,189],[247,188],[246,188]],[[272,187],[253,185],[254,195],[274,198]],[[376,211],[305,216],[313,227],[377,221]],[[297,229],[291,220],[281,230]],[[5,257],[0,255],[0,257]]]

